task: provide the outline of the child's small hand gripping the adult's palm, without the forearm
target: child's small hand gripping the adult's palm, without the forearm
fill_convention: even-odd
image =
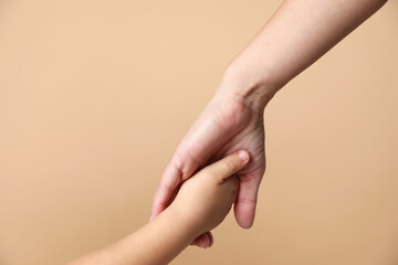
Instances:
[[[234,152],[197,172],[182,183],[169,210],[197,235],[218,226],[229,213],[239,190],[233,176],[249,162],[247,151]]]

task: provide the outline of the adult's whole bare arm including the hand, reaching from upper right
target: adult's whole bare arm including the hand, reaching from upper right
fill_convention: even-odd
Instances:
[[[387,0],[285,0],[229,64],[210,103],[179,142],[153,203],[153,216],[168,205],[175,189],[212,159],[245,149],[252,159],[238,172],[238,223],[254,222],[259,186],[265,171],[263,112],[294,76],[374,14]],[[205,236],[203,236],[205,235]],[[195,241],[209,245],[203,234]]]

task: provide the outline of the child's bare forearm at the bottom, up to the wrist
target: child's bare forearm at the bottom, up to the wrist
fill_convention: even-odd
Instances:
[[[167,264],[198,235],[172,209],[123,240],[91,253],[70,265]]]

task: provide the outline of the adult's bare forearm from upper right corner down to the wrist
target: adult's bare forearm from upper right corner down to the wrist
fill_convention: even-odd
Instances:
[[[228,66],[219,91],[256,109],[387,0],[285,0]]]

